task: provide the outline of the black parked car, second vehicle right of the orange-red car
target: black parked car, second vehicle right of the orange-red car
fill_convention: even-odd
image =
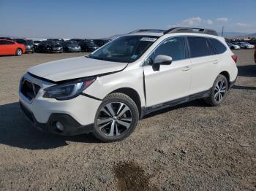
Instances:
[[[37,46],[37,52],[41,53],[54,53],[54,52],[63,52],[63,47],[61,44],[58,44],[53,41],[43,41]]]

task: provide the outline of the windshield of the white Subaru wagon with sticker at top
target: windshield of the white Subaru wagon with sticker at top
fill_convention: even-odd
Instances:
[[[89,55],[89,58],[131,63],[138,60],[157,38],[158,36],[121,36]]]

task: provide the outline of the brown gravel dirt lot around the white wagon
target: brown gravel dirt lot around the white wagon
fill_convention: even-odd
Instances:
[[[110,144],[41,133],[18,106],[26,69],[84,53],[0,57],[0,190],[256,190],[256,64],[252,50],[235,53],[222,106],[165,109]]]

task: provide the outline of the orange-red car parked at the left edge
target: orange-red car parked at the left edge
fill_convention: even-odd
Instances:
[[[0,55],[22,55],[26,52],[26,48],[23,44],[17,42],[0,39]]]

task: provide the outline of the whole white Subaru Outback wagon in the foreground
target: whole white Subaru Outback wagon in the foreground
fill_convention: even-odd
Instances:
[[[197,98],[222,104],[236,61],[213,30],[137,30],[90,55],[32,67],[20,80],[20,106],[41,130],[118,141],[150,112]]]

